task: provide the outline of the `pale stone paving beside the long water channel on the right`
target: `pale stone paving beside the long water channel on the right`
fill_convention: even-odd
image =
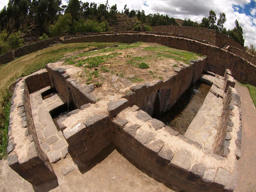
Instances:
[[[184,136],[198,142],[204,148],[213,149],[223,108],[224,80],[223,77],[212,74],[203,75],[200,80],[212,84],[212,87]]]

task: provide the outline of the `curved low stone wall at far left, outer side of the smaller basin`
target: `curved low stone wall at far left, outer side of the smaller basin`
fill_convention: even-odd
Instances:
[[[8,137],[8,164],[21,177],[33,185],[57,179],[37,139],[25,78],[14,90]]]

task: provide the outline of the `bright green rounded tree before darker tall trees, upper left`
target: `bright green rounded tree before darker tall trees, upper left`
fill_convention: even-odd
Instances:
[[[50,26],[51,36],[60,36],[65,30],[68,29],[68,26],[71,24],[72,15],[71,13],[66,13],[65,15],[60,15],[58,20]]]

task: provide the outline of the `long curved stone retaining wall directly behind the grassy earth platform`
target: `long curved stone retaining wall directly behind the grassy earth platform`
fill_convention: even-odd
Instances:
[[[225,69],[233,71],[233,77],[243,83],[249,83],[256,86],[256,66],[233,53],[222,50],[216,46],[203,44],[194,40],[172,37],[157,36],[149,34],[114,34],[85,36],[73,39],[63,40],[62,43],[79,42],[122,42],[135,43],[138,41],[158,43],[176,49],[196,52],[201,55],[207,55],[206,70],[224,75]]]

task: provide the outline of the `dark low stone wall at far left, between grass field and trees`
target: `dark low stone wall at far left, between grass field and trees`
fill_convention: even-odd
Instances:
[[[3,65],[5,63],[8,63],[8,62],[14,60],[16,57],[21,57],[28,53],[32,53],[32,52],[38,51],[40,49],[44,49],[44,48],[48,47],[50,44],[54,44],[55,41],[60,41],[60,38],[55,37],[52,39],[38,41],[38,42],[35,42],[32,44],[28,44],[28,45],[19,47],[18,49],[15,49],[14,51],[7,52],[0,56],[0,64]]]

